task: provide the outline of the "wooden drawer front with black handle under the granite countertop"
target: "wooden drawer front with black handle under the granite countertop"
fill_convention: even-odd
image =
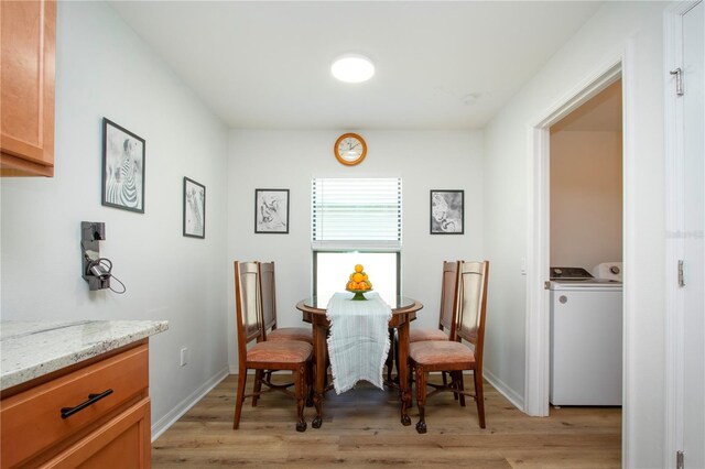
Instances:
[[[2,467],[36,456],[106,417],[149,388],[147,345],[126,350],[29,391],[2,400],[0,435]],[[111,390],[111,393],[107,393]],[[89,394],[105,397],[62,417],[62,408],[79,406]]]

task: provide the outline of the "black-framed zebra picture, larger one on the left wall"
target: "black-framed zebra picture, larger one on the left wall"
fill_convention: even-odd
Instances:
[[[106,118],[102,205],[144,214],[144,139]]]

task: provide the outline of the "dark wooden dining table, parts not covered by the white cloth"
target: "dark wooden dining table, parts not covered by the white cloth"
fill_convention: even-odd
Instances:
[[[318,298],[312,296],[302,299],[296,304],[296,309],[303,313],[303,319],[311,323],[313,327],[313,346],[315,356],[315,379],[313,404],[316,408],[316,417],[312,422],[314,428],[321,428],[323,424],[323,397],[325,393],[326,362],[327,362],[327,337],[330,321],[326,316],[326,307],[329,298]],[[408,296],[397,296],[395,302],[390,304],[392,317],[389,327],[395,328],[399,335],[399,396],[401,400],[401,423],[411,425],[408,410],[411,407],[411,380],[409,379],[409,368],[406,366],[409,357],[409,325],[416,318],[416,312],[423,308],[417,301]]]

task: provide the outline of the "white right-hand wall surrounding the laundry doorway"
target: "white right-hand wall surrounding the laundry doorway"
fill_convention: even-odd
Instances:
[[[625,166],[628,181],[625,232],[637,233],[625,252],[631,270],[625,295],[633,318],[626,342],[622,427],[628,467],[661,467],[664,425],[663,275],[663,84],[662,22],[666,3],[607,2],[514,96],[485,133],[485,247],[494,262],[489,296],[487,366],[518,395],[524,394],[525,277],[529,201],[529,127],[576,91],[586,76],[629,48],[633,94],[625,112],[633,116],[636,159]],[[629,92],[629,91],[628,91]],[[633,98],[633,101],[631,100]],[[631,108],[631,110],[629,110]],[[632,178],[632,179],[629,179]],[[628,258],[631,253],[632,258]],[[633,319],[633,320],[632,320]]]

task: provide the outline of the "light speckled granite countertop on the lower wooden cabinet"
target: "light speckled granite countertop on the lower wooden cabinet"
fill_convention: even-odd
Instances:
[[[4,391],[169,328],[165,320],[0,323],[0,390]]]

